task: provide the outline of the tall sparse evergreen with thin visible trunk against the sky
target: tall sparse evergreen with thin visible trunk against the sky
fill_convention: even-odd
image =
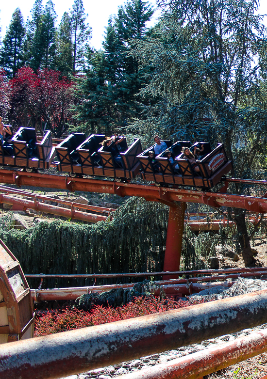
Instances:
[[[88,41],[91,38],[91,28],[85,23],[86,15],[83,8],[83,0],[74,0],[71,13],[73,31],[73,64],[72,69],[83,68],[84,56],[88,49]]]

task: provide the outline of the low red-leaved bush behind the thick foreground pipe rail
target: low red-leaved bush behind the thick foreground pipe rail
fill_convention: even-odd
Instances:
[[[160,300],[159,298],[153,297],[142,299],[139,297],[135,298],[135,300],[129,304],[117,307],[116,309],[96,305],[90,313],[77,309],[47,311],[46,314],[36,316],[35,337],[125,320],[132,317],[150,315],[152,313],[170,311],[172,309],[184,308],[203,302],[204,300],[175,301],[173,299]]]

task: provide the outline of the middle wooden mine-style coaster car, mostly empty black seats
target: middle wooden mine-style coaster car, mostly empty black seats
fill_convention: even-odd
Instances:
[[[79,135],[79,136],[78,136]],[[77,139],[81,138],[81,143]],[[114,177],[116,180],[131,179],[139,174],[140,164],[136,158],[142,147],[139,138],[128,147],[126,140],[120,142],[123,153],[119,153],[119,163],[110,152],[103,151],[104,135],[92,134],[87,139],[83,133],[73,133],[56,146],[59,171],[70,176],[97,175]],[[114,142],[113,142],[114,143]]]

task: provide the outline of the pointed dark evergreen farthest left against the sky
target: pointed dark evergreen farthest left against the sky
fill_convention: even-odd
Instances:
[[[0,64],[5,68],[9,77],[14,77],[17,69],[23,64],[23,42],[25,37],[25,27],[20,9],[17,8],[12,15],[12,19],[6,35],[3,39],[3,46],[0,51]]]

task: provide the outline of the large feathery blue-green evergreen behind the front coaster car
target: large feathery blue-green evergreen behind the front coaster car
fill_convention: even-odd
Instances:
[[[251,106],[250,99],[259,97],[257,83],[267,62],[258,55],[266,45],[266,29],[257,15],[257,1],[161,0],[160,5],[165,11],[159,30],[164,43],[136,40],[133,51],[144,67],[154,67],[144,94],[161,98],[149,109],[145,131],[177,140],[207,140],[213,146],[224,142],[234,162],[232,176],[260,177],[257,161],[266,156],[266,110],[260,102]],[[210,123],[203,121],[207,117]],[[232,190],[251,192],[248,185]],[[234,208],[233,221],[237,247],[251,265],[255,260],[243,209]]]

